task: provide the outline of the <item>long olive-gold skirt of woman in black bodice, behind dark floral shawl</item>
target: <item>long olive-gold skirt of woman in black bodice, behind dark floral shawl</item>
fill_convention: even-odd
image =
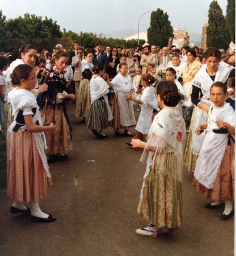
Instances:
[[[87,118],[91,104],[89,80],[83,79],[79,85],[78,97],[76,100],[75,117]]]

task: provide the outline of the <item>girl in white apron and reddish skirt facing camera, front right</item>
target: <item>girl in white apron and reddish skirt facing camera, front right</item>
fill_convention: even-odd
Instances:
[[[205,199],[213,203],[205,208],[214,209],[225,206],[220,217],[229,220],[234,214],[231,200],[234,200],[234,136],[235,113],[229,103],[224,102],[227,88],[223,82],[214,82],[210,87],[208,122],[196,127],[200,135],[207,129],[203,146],[197,158],[193,185],[197,191],[205,192]]]

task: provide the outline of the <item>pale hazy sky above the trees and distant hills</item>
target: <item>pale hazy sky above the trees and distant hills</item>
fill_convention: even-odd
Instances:
[[[61,30],[79,33],[138,30],[138,19],[146,11],[161,8],[169,16],[172,27],[180,27],[191,33],[201,34],[208,22],[208,10],[212,0],[0,0],[3,15],[17,18],[24,13],[47,16],[57,21]],[[227,0],[218,0],[226,14]],[[140,32],[150,26],[150,14],[140,19]]]

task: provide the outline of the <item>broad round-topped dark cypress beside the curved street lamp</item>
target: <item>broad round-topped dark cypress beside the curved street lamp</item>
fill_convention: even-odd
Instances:
[[[167,13],[157,9],[151,13],[150,27],[147,29],[147,41],[150,45],[168,46],[168,39],[173,36],[173,28]]]

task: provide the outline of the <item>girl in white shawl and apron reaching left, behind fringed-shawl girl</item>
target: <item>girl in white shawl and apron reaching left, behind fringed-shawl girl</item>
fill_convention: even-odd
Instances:
[[[128,100],[132,100],[137,104],[141,105],[140,117],[136,125],[136,138],[141,141],[147,141],[147,134],[149,133],[149,128],[151,126],[153,118],[153,110],[159,110],[157,98],[155,96],[154,88],[150,86],[155,82],[155,77],[150,74],[145,74],[141,76],[141,84],[144,86],[142,90],[142,96],[140,100],[133,98],[131,94],[128,94]],[[131,143],[127,143],[132,146]]]

